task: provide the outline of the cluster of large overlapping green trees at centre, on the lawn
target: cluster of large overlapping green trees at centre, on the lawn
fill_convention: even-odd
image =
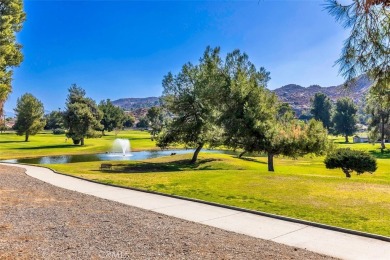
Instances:
[[[219,48],[208,47],[199,64],[187,63],[177,75],[164,77],[162,107],[171,117],[157,145],[196,148],[192,163],[205,145],[267,153],[269,171],[276,155],[325,153],[322,123],[295,119],[291,108],[266,88],[269,79],[269,72],[257,70],[239,50],[222,60]]]

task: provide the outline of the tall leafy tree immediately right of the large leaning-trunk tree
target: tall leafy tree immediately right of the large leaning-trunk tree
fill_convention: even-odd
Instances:
[[[218,123],[224,130],[223,143],[243,152],[262,151],[265,133],[277,113],[277,98],[265,89],[269,73],[264,68],[257,71],[248,56],[236,50],[227,55],[224,74],[226,84],[215,99],[221,111]]]

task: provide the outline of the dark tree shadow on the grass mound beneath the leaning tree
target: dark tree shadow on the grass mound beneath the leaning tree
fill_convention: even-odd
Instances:
[[[201,159],[195,164],[191,164],[190,160],[179,160],[171,162],[137,162],[135,164],[113,164],[112,169],[104,170],[106,173],[141,173],[141,172],[177,172],[191,170],[205,170],[205,167],[212,170],[210,166],[204,166],[205,163],[218,161],[218,159]],[[215,170],[215,169],[214,169]],[[100,171],[100,170],[94,170]]]

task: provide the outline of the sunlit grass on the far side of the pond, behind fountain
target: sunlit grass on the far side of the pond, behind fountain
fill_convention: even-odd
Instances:
[[[132,150],[157,149],[150,140],[147,131],[122,131],[117,136],[106,133],[101,138],[85,139],[85,145],[73,145],[72,140],[65,142],[65,135],[53,135],[51,132],[42,132],[30,136],[29,142],[24,142],[23,136],[13,132],[0,134],[0,160],[39,157],[46,155],[86,154],[110,151],[115,138],[130,139]]]

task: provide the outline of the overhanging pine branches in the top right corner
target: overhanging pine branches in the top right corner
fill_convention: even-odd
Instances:
[[[351,80],[369,72],[375,80],[390,77],[390,4],[387,0],[353,0],[344,5],[328,0],[327,9],[350,28],[341,57],[340,72]]]

